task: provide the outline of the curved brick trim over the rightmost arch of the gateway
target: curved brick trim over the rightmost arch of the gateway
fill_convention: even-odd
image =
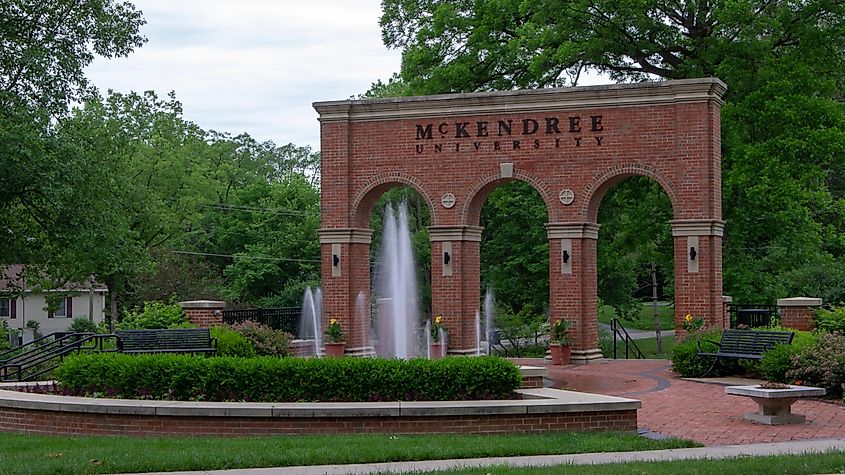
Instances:
[[[669,201],[672,203],[672,214],[677,219],[681,215],[681,208],[678,202],[678,197],[675,193],[675,185],[672,180],[661,174],[655,167],[644,165],[641,163],[631,163],[626,165],[614,165],[606,168],[599,173],[593,175],[593,178],[587,182],[582,189],[578,200],[578,216],[582,217],[584,222],[595,223],[598,219],[599,205],[613,185],[630,178],[632,176],[647,176],[663,188],[663,191],[669,195]]]

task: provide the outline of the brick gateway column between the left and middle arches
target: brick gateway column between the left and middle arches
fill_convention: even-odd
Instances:
[[[475,312],[481,307],[482,229],[478,226],[428,228],[431,310],[432,315],[443,316],[450,354],[474,355],[477,351]]]

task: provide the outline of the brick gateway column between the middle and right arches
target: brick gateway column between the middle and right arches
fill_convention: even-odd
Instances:
[[[548,223],[549,320],[572,322],[571,361],[588,364],[603,360],[598,335],[596,243],[599,225]]]

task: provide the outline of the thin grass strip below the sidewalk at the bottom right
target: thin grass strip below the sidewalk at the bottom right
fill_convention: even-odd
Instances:
[[[558,465],[542,468],[511,468],[505,466],[483,467],[421,474],[647,474],[647,475],[712,475],[714,473],[742,473],[754,475],[803,475],[816,473],[843,473],[845,453],[832,452],[813,455],[779,455],[776,457],[739,457],[724,460],[678,460],[674,462],[635,462],[608,465]]]

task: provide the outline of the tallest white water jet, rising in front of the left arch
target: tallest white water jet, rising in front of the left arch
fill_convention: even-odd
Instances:
[[[399,205],[398,216],[391,204],[385,208],[375,277],[378,303],[376,353],[387,358],[413,358],[420,343],[420,313],[406,202]]]

